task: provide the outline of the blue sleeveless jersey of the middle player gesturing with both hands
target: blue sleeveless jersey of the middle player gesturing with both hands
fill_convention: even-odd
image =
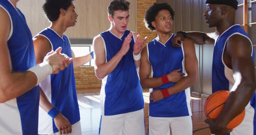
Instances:
[[[102,32],[100,36],[105,42],[106,62],[110,61],[120,51],[129,30],[119,39],[110,31]],[[111,116],[130,113],[144,108],[142,88],[133,59],[132,37],[130,49],[121,59],[117,67],[102,80],[101,104],[102,115]]]

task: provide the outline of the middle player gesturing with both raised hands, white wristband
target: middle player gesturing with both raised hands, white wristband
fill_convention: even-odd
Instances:
[[[129,5],[112,0],[108,6],[111,27],[93,40],[95,74],[102,79],[100,135],[145,135],[144,99],[136,67],[146,42],[127,30]]]

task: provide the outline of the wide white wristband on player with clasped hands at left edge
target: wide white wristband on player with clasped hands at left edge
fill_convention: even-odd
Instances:
[[[28,69],[28,71],[32,71],[36,74],[37,77],[37,84],[41,83],[47,76],[53,73],[53,68],[48,62],[40,63],[34,67]]]

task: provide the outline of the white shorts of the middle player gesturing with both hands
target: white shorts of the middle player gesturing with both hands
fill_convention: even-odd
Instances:
[[[102,116],[99,131],[99,135],[145,135],[144,111]]]

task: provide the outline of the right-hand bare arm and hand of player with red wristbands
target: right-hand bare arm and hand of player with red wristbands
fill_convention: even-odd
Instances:
[[[187,76],[177,82],[174,86],[167,88],[170,95],[179,93],[198,81],[198,62],[194,43],[190,39],[185,39],[183,47]],[[161,90],[154,90],[150,93],[150,97],[153,102],[164,98]]]

